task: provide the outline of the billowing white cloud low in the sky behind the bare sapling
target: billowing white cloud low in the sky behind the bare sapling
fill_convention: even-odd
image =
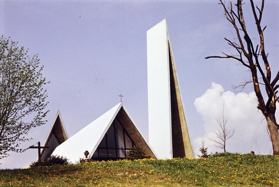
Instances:
[[[266,121],[257,109],[255,93],[224,92],[224,88],[215,82],[212,82],[211,88],[194,102],[198,113],[204,120],[204,135],[194,140],[195,153],[200,154],[198,147],[201,146],[202,138],[205,140],[205,146],[208,146],[208,152],[223,152],[208,139],[208,137],[215,138],[214,132],[219,127],[215,118],[222,114],[223,104],[224,116],[228,117],[227,127],[228,129],[235,128],[235,134],[226,142],[226,151],[233,153],[255,151],[259,154],[259,148],[260,154],[272,153],[272,145],[266,131]]]

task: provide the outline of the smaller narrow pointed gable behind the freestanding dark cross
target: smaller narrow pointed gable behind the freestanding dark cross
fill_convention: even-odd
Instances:
[[[64,126],[60,111],[58,110],[52,126],[50,128],[48,137],[45,141],[44,146],[48,146],[48,149],[42,149],[41,160],[46,160],[52,153],[52,151],[65,142],[68,139],[68,134]]]

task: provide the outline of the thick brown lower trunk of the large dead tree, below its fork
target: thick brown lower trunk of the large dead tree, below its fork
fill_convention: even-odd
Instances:
[[[276,123],[276,118],[273,114],[269,113],[266,119],[272,140],[273,155],[279,155],[279,127]]]

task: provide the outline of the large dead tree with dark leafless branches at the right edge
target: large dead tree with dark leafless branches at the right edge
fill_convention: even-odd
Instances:
[[[248,68],[251,72],[252,80],[247,81],[247,83],[253,82],[258,101],[257,108],[262,111],[267,120],[267,127],[271,135],[273,155],[279,155],[279,125],[275,118],[276,102],[279,102],[278,96],[276,95],[278,93],[277,89],[279,88],[277,83],[279,80],[279,71],[275,70],[278,72],[272,80],[271,69],[267,58],[268,53],[266,53],[264,45],[264,30],[267,26],[264,26],[264,28],[261,26],[264,0],[262,0],[260,8],[257,6],[255,7],[253,0],[250,0],[253,17],[255,19],[255,29],[259,37],[259,40],[253,40],[253,42],[244,22],[242,10],[242,5],[244,5],[244,3],[242,3],[242,0],[237,0],[235,4],[236,8],[233,8],[231,1],[228,3],[228,7],[226,7],[225,1],[220,0],[219,4],[222,5],[226,19],[235,30],[236,41],[226,38],[225,40],[228,42],[228,45],[235,49],[236,54],[229,55],[223,53],[224,56],[208,56],[205,58],[233,58]],[[260,41],[260,43],[257,43],[258,41]],[[242,87],[245,85],[246,84],[243,84]],[[264,87],[260,87],[260,85],[264,85]],[[267,94],[268,99],[266,101],[264,100],[262,91]]]

